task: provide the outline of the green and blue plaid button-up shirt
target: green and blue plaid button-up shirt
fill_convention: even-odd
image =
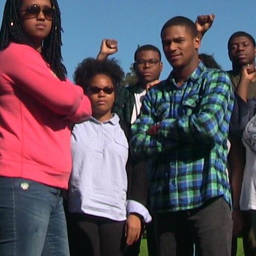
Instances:
[[[139,158],[155,158],[153,211],[193,209],[217,196],[231,206],[226,162],[232,108],[228,75],[202,62],[181,87],[171,73],[147,93],[131,142]],[[158,135],[147,135],[156,123]]]

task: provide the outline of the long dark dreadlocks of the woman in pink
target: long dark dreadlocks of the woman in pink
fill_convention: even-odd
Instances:
[[[50,64],[51,70],[60,80],[65,80],[67,70],[62,64],[61,55],[61,19],[57,0],[50,0],[53,8],[52,29],[42,44],[42,56]],[[33,47],[32,41],[23,33],[19,23],[18,12],[22,0],[7,0],[0,31],[0,51],[6,49],[11,42]]]

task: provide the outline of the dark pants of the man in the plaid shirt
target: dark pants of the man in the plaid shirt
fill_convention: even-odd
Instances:
[[[219,197],[193,210],[156,214],[156,234],[161,256],[193,255],[194,244],[199,256],[229,256],[230,207]]]

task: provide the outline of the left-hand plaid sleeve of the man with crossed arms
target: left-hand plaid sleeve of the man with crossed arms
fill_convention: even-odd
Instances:
[[[172,150],[177,145],[176,142],[172,142],[166,137],[146,134],[147,130],[157,122],[157,113],[152,102],[156,101],[158,96],[155,90],[150,90],[146,94],[140,109],[140,115],[131,128],[132,149],[134,154],[141,159],[156,157],[158,154]]]

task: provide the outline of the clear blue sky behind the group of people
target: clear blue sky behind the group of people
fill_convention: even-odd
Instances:
[[[119,52],[115,57],[128,72],[138,45],[152,44],[162,52],[161,28],[177,15],[196,20],[200,14],[216,14],[200,52],[214,54],[225,70],[231,69],[227,55],[229,36],[242,30],[256,38],[255,0],[58,0],[58,3],[64,30],[63,62],[69,78],[83,58],[96,57],[103,38],[118,40]],[[4,4],[5,0],[0,0],[1,20]],[[164,55],[162,59],[161,79],[164,79],[171,67]]]

